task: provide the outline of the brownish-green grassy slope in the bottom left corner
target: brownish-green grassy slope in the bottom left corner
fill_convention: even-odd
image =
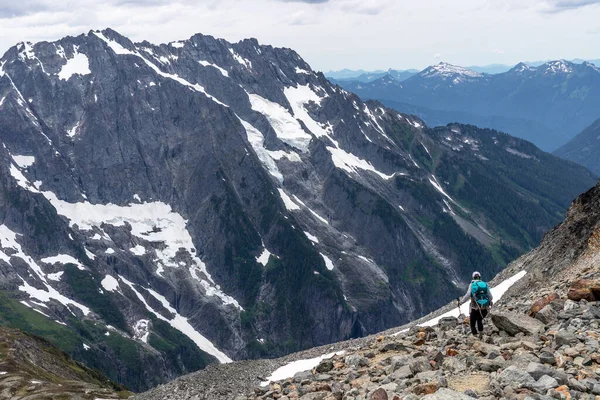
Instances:
[[[124,399],[131,393],[49,342],[0,327],[3,399]]]

